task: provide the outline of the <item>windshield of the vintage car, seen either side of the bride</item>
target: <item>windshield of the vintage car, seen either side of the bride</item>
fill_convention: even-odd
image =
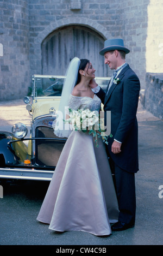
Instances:
[[[64,79],[65,76],[33,75],[33,97],[61,96]],[[110,78],[97,77],[95,80],[105,90]]]

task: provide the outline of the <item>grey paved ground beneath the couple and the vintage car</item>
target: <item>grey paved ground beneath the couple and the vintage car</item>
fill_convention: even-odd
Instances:
[[[163,121],[142,109],[139,121],[139,163],[136,174],[135,228],[96,237],[84,232],[55,233],[36,222],[47,183],[10,186],[0,199],[1,245],[162,245],[163,229]],[[0,130],[11,131],[15,122],[30,126],[22,100],[0,103]]]

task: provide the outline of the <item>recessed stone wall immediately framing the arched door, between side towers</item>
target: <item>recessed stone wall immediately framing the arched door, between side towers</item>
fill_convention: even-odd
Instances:
[[[68,25],[86,26],[102,35],[104,39],[121,37],[120,4],[112,1],[78,1],[79,9],[73,9],[70,0],[29,0],[30,21],[30,67],[41,73],[41,43],[58,28]]]

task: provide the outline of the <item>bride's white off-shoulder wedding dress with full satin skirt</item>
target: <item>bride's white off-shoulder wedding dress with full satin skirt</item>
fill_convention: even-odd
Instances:
[[[70,96],[71,109],[101,108],[96,96]],[[118,221],[118,204],[102,138],[95,146],[92,135],[74,131],[61,152],[37,220],[56,231],[86,231],[110,235]]]

